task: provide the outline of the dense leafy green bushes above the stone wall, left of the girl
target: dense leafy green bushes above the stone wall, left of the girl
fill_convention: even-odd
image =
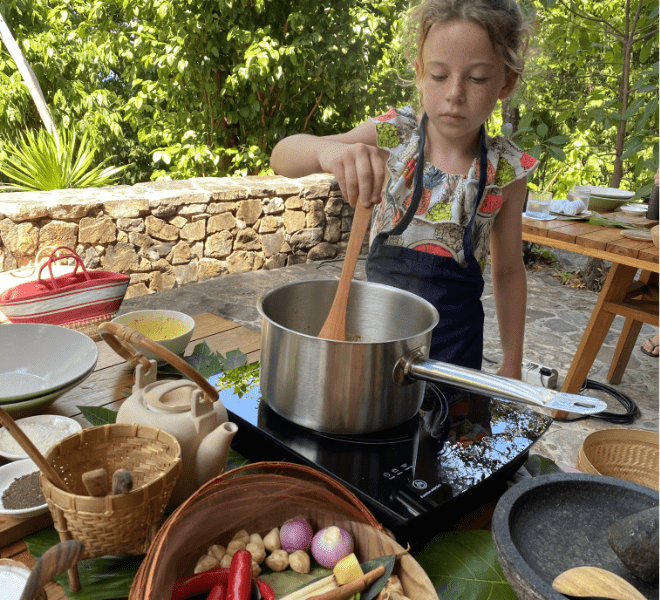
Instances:
[[[348,129],[400,104],[412,92],[393,76],[403,4],[3,0],[0,11],[55,122],[132,163],[132,183],[270,173],[281,137]],[[38,122],[0,50],[0,132]]]

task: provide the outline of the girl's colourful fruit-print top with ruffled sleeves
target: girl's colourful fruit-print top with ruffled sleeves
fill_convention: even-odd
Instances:
[[[392,109],[375,117],[378,146],[389,150],[390,179],[383,190],[383,201],[376,205],[371,224],[371,240],[391,230],[410,206],[415,161],[419,153],[419,124],[410,106]],[[478,199],[479,160],[475,157],[467,177],[450,175],[424,161],[422,198],[410,225],[388,244],[448,256],[465,264],[463,233],[475,202],[479,202],[473,225],[472,252],[483,272],[489,252],[490,232],[502,206],[502,188],[526,177],[538,160],[523,152],[508,138],[488,138],[486,189]]]

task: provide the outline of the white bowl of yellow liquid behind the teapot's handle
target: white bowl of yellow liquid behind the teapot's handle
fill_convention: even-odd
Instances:
[[[183,356],[186,351],[195,329],[195,320],[192,317],[175,310],[136,310],[119,315],[112,319],[112,322],[127,325],[139,331],[150,340],[158,342],[179,356]],[[164,337],[164,334],[172,333],[176,335]],[[155,360],[160,365],[167,362],[146,348],[136,349],[149,360]]]

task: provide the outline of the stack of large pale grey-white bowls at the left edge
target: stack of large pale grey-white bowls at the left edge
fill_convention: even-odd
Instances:
[[[84,333],[57,325],[0,325],[0,405],[36,414],[92,374],[99,351]]]

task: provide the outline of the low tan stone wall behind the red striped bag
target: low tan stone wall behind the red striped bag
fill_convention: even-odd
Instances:
[[[346,248],[352,215],[328,175],[5,193],[0,271],[69,246],[90,269],[129,274],[129,298],[223,273],[334,258]]]

